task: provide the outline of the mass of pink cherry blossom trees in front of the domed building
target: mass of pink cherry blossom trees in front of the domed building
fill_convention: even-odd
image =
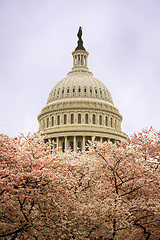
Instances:
[[[0,239],[159,239],[159,167],[150,159],[160,135],[151,131],[156,141],[92,141],[83,153],[53,150],[37,134],[0,135]]]

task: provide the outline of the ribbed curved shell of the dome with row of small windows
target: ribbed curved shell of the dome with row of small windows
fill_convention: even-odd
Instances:
[[[113,104],[111,94],[106,86],[88,71],[70,72],[52,89],[47,104],[62,98],[94,98]]]

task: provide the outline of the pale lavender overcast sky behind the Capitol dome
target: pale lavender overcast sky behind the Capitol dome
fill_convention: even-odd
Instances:
[[[79,26],[122,130],[160,129],[159,0],[0,0],[0,133],[38,130],[49,92],[72,68]]]

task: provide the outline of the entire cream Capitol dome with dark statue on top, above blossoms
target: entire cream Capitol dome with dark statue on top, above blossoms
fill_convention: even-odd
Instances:
[[[84,150],[92,137],[113,143],[127,137],[121,131],[122,116],[109,90],[87,67],[81,28],[77,36],[73,68],[53,87],[38,116],[40,134],[54,140],[62,151]]]

